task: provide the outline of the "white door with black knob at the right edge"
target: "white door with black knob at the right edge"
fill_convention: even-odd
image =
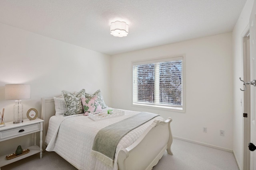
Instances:
[[[251,81],[256,79],[256,2],[250,15],[250,72]],[[251,143],[256,145],[256,87],[251,86]],[[256,150],[250,154],[250,169],[256,170]]]

